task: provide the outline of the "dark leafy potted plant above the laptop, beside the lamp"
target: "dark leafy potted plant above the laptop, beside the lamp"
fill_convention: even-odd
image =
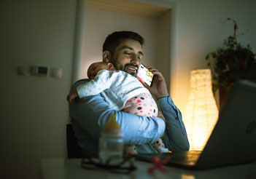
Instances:
[[[255,53],[249,44],[243,47],[236,39],[238,25],[236,20],[228,18],[233,22],[233,36],[225,39],[223,46],[215,52],[206,55],[207,65],[212,69],[212,90],[220,90],[220,110],[228,98],[228,92],[233,84],[241,79],[244,72],[252,65],[255,65]]]

